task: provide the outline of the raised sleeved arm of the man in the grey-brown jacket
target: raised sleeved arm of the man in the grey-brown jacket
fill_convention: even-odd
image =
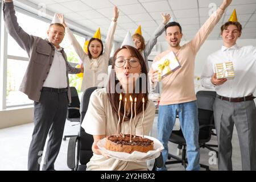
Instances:
[[[19,26],[15,15],[13,0],[3,1],[3,18],[5,20],[7,32],[14,38],[20,47],[29,53],[34,37],[28,35],[27,32]]]

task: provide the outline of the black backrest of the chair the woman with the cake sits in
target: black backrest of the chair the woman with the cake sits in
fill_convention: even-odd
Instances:
[[[81,98],[81,122],[83,121],[85,117],[85,113],[88,109],[89,101],[90,101],[90,95],[93,93],[94,90],[98,89],[97,86],[90,87],[82,93]],[[87,164],[92,158],[93,152],[92,152],[92,144],[93,144],[93,136],[86,133],[82,127],[80,127],[80,147],[79,147],[79,161],[80,164]]]

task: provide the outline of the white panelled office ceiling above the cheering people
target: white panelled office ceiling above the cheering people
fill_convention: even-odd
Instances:
[[[135,32],[142,26],[146,40],[162,22],[160,13],[170,13],[183,27],[183,40],[191,40],[205,20],[209,10],[220,6],[222,0],[29,0],[38,6],[44,3],[49,12],[65,15],[68,24],[87,28],[93,34],[98,27],[106,35],[113,17],[113,6],[119,9],[119,18],[114,40],[122,42],[127,30]],[[31,4],[32,4],[31,3]],[[42,5],[42,4],[41,4]],[[209,40],[220,39],[220,27],[236,9],[238,21],[243,26],[242,39],[256,38],[256,0],[233,0],[220,22],[209,35]],[[164,41],[164,35],[159,41]]]

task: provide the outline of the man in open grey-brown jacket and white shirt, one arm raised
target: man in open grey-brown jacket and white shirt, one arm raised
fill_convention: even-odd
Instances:
[[[46,156],[43,170],[54,170],[63,136],[68,104],[71,102],[68,73],[84,72],[73,68],[60,43],[65,28],[53,23],[47,31],[48,38],[28,35],[17,22],[13,0],[3,1],[7,32],[16,40],[29,57],[27,71],[19,90],[34,100],[34,131],[28,151],[28,170],[39,170],[47,135]]]

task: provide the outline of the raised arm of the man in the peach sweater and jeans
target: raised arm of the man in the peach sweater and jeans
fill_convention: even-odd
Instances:
[[[215,13],[210,15],[208,20],[196,33],[196,36],[191,40],[191,46],[195,53],[199,51],[200,47],[207,39],[210,32],[212,32],[214,26],[216,26],[216,24],[219,22],[222,14],[224,14],[225,9],[230,5],[231,2],[232,0],[223,0],[222,5],[217,9]]]

